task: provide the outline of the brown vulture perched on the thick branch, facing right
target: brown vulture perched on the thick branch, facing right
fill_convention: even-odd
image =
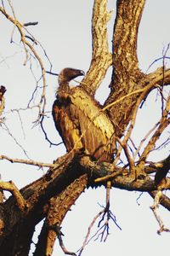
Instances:
[[[68,152],[83,149],[93,160],[110,162],[115,148],[110,119],[81,86],[69,85],[71,79],[82,75],[82,70],[70,67],[59,73],[59,90],[52,112],[54,124]]]

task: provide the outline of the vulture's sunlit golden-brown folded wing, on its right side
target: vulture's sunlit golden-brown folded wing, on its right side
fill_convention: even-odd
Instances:
[[[97,160],[110,161],[113,147],[114,127],[110,119],[102,112],[86,92],[79,87],[70,93],[71,119],[75,119],[81,128],[84,148]]]

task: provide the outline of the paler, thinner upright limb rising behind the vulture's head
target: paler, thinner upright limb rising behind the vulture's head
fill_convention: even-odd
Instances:
[[[93,53],[87,76],[82,80],[82,87],[89,95],[94,96],[99,84],[111,67],[112,55],[108,47],[107,23],[111,12],[107,11],[107,0],[95,0],[92,19]]]

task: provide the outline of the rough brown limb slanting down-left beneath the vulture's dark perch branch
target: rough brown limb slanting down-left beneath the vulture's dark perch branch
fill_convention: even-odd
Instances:
[[[65,218],[65,214],[70,210],[71,206],[77,201],[88,183],[87,175],[77,178],[71,183],[59,196],[54,196],[49,201],[48,215],[42,226],[36,251],[34,256],[53,253],[54,241],[57,232],[55,227],[59,227]]]

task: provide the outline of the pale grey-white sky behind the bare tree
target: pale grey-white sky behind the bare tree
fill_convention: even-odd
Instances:
[[[76,67],[85,72],[88,71],[91,60],[91,16],[94,1],[50,0],[43,2],[40,0],[13,0],[12,3],[15,15],[20,22],[38,21],[38,25],[29,27],[29,31],[42,44],[53,64],[52,69],[54,72],[59,73],[63,67]],[[113,10],[111,21],[108,24],[111,48],[112,24],[116,15],[116,2],[114,0],[108,1],[108,9]],[[170,3],[168,0],[146,1],[144,14],[139,26],[138,41],[139,67],[144,72],[147,71],[153,61],[161,57],[162,50],[166,49],[167,44],[170,42],[169,9]],[[32,91],[40,78],[37,62],[31,58],[31,62],[23,66],[26,55],[20,45],[20,37],[15,30],[13,32],[13,26],[2,15],[0,32],[0,83],[7,88],[4,116],[5,124],[9,131],[5,131],[4,126],[3,129],[0,129],[0,154],[22,159],[26,159],[27,154],[32,160],[51,163],[60,155],[65,154],[64,145],[50,147],[49,143],[45,141],[40,127],[38,125],[35,126],[35,120],[37,119],[36,109],[14,111],[14,109],[26,108],[31,99]],[[12,33],[15,43],[10,44]],[[49,70],[50,65],[43,55],[43,50],[37,50]],[[156,61],[150,67],[149,72],[160,66],[161,61]],[[55,77],[47,75],[47,79],[46,110],[48,119],[44,123],[44,127],[48,131],[49,139],[53,143],[59,143],[61,139],[55,131],[50,113],[58,84]],[[96,98],[99,102],[105,102],[105,98],[109,94],[108,85],[110,84],[110,79],[111,70],[108,71],[105,80],[97,91]],[[133,137],[135,143],[139,143],[148,129],[159,118],[158,102],[153,94],[149,97],[149,102],[140,110]],[[25,148],[26,154],[22,148]],[[165,148],[165,150],[151,155],[150,160],[164,159],[168,153],[169,148]],[[19,189],[41,177],[46,171],[47,169],[40,170],[34,166],[11,164],[6,160],[0,161],[2,179],[5,181],[12,179]],[[147,194],[141,195],[139,200],[138,198],[139,192],[111,189],[111,211],[116,215],[117,223],[121,226],[122,231],[111,223],[111,235],[107,241],[91,241],[82,255],[102,256],[104,254],[114,254],[122,256],[126,254],[135,256],[138,254],[138,256],[143,256],[147,253],[148,255],[158,256],[169,250],[170,234],[163,233],[161,236],[156,234],[158,225],[153,213],[150,211],[150,206],[153,204],[152,199]],[[86,190],[78,199],[76,205],[71,207],[71,212],[67,214],[62,224],[62,232],[65,234],[64,242],[67,249],[76,252],[82,246],[89,224],[101,210],[99,205],[105,205],[104,188]],[[162,207],[159,210],[164,223],[170,228],[169,212]],[[39,229],[37,227],[37,232]],[[96,229],[95,227],[93,234]],[[34,236],[33,241],[37,241],[36,236]],[[34,246],[32,245],[31,252],[33,248]],[[54,255],[64,255],[59,248],[58,241],[55,243]]]

